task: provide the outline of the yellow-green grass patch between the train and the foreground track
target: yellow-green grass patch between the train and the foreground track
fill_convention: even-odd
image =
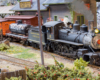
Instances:
[[[11,47],[7,50],[4,50],[4,52],[6,52],[6,54],[15,54],[14,57],[20,59],[35,58],[35,54],[30,52],[30,49],[26,49],[21,46],[11,45]]]

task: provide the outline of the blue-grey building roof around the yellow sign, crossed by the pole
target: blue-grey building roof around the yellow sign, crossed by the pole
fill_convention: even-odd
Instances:
[[[21,1],[27,1],[27,0],[21,0]],[[48,5],[43,5],[45,0],[40,0],[40,10],[47,10]],[[20,4],[17,3],[11,11],[37,11],[37,0],[32,0],[31,8],[20,8]]]

